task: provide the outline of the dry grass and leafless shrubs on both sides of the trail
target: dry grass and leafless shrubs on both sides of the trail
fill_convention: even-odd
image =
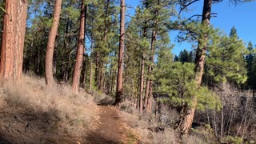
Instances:
[[[177,110],[163,105],[158,107],[157,115],[139,114],[130,102],[123,102],[123,111],[117,114],[126,125],[127,142],[203,144],[238,142],[238,138],[254,140],[254,100],[228,86],[215,91],[222,97],[223,109],[215,113],[199,111],[195,119],[198,126],[182,139],[174,129]],[[97,135],[100,128],[101,114],[96,103],[113,103],[106,94],[90,94],[84,90],[75,93],[66,85],[46,87],[44,79],[27,75],[21,84],[6,85],[0,90],[0,143],[88,142],[86,138]],[[203,115],[210,118],[210,125],[203,123],[207,122]]]

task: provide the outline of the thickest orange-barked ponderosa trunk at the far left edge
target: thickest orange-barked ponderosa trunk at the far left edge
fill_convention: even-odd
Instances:
[[[27,0],[5,1],[0,70],[2,82],[18,82],[22,78],[27,4]]]

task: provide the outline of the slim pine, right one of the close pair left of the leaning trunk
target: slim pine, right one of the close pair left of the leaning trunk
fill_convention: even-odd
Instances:
[[[146,108],[146,112],[151,112],[151,105],[152,105],[152,97],[153,97],[153,82],[154,82],[154,75],[152,71],[154,70],[154,57],[155,51],[158,46],[159,39],[162,38],[162,35],[165,35],[168,31],[167,24],[169,23],[169,19],[174,14],[174,9],[172,7],[172,2],[164,0],[154,0],[154,1],[144,1],[148,4],[146,9],[149,11],[150,14],[150,21],[152,23],[151,27],[151,38],[150,38],[150,50],[149,50],[149,58],[148,62],[148,69],[146,75],[146,91],[145,91],[145,101],[144,106]]]

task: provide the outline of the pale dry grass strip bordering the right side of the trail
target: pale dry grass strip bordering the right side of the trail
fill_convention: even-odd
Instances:
[[[206,138],[202,135],[193,132],[184,138],[180,138],[180,134],[177,130],[170,126],[166,126],[162,122],[158,122],[159,118],[154,118],[154,115],[148,114],[139,114],[138,110],[134,107],[130,107],[128,110],[132,113],[126,113],[122,111],[120,114],[123,120],[126,122],[128,126],[132,129],[136,130],[136,132],[140,135],[140,140],[142,143],[155,143],[155,144],[206,144],[206,143],[214,143],[208,142]],[[169,110],[165,113],[166,116],[170,119],[174,119],[177,114],[175,111]],[[165,130],[155,131],[154,127],[162,126]]]

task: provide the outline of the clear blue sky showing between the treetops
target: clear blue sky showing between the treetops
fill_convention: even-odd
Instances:
[[[126,0],[126,5],[134,8],[128,8],[128,14],[134,14],[136,6],[139,4],[139,0]],[[189,13],[182,13],[182,17],[189,18],[194,14],[202,14],[203,0],[195,2],[190,6]],[[223,30],[226,34],[230,33],[232,26],[238,30],[239,38],[247,44],[249,41],[256,44],[256,2],[243,3],[238,6],[234,6],[229,0],[223,0],[223,2],[215,3],[212,6],[212,13],[218,13],[216,18],[211,18],[211,24],[215,28]],[[171,42],[175,44],[172,52],[178,54],[180,50],[192,50],[191,44],[187,42],[178,43],[175,41],[178,32],[170,32]]]

